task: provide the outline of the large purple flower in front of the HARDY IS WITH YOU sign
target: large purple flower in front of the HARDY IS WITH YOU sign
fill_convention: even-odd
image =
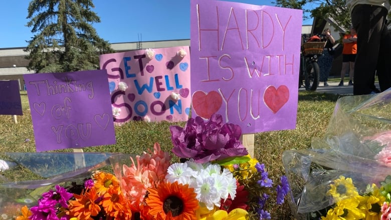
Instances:
[[[239,141],[239,125],[224,124],[223,117],[213,114],[208,121],[200,116],[190,118],[184,128],[170,126],[172,152],[180,158],[205,163],[227,157],[245,156],[247,149]]]

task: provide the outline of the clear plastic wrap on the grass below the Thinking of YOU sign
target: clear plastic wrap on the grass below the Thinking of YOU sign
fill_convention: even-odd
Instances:
[[[23,205],[36,204],[41,194],[56,184],[82,182],[96,170],[112,172],[112,165],[129,164],[131,156],[121,153],[0,153],[0,213],[17,213],[16,209]]]

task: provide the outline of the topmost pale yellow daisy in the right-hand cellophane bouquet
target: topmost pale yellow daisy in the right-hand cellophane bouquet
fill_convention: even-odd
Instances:
[[[339,176],[339,179],[334,180],[334,184],[330,184],[330,189],[326,193],[331,195],[338,202],[343,199],[358,195],[357,188],[354,186],[351,178]]]

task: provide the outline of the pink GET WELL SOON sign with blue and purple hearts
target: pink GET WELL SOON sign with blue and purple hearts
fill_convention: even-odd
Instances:
[[[190,111],[189,47],[103,54],[114,122],[187,121]]]

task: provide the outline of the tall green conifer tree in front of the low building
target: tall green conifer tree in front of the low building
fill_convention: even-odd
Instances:
[[[99,69],[99,54],[114,50],[92,27],[100,18],[91,8],[92,0],[31,1],[27,26],[34,37],[27,41],[27,68],[37,73]]]

